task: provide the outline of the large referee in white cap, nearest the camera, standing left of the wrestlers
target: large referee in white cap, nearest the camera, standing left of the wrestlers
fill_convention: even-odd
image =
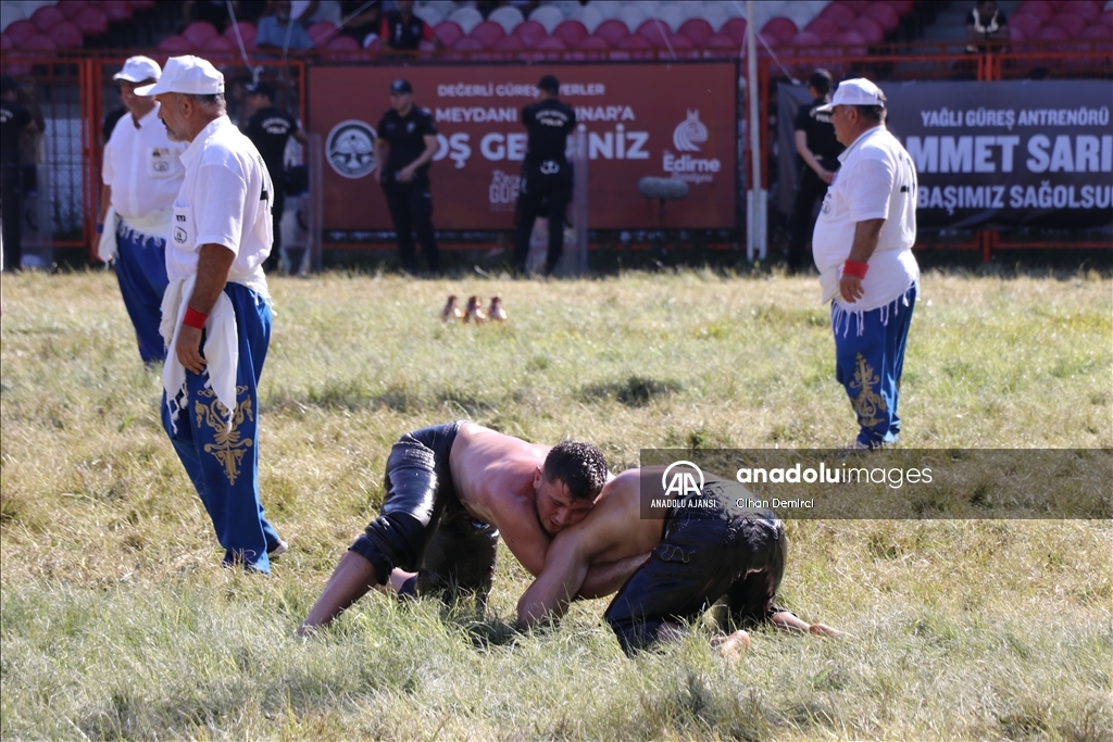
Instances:
[[[224,75],[173,57],[157,96],[170,139],[187,142],[166,250],[162,425],[193,479],[226,565],[269,573],[286,544],[259,502],[259,375],[270,343],[274,186],[255,145],[228,119]],[[203,347],[204,345],[204,347]]]

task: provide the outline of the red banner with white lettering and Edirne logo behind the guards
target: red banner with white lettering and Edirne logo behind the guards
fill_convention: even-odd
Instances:
[[[392,229],[372,145],[397,77],[410,80],[414,103],[440,130],[430,172],[436,228],[512,229],[526,147],[521,109],[545,72],[560,79],[561,99],[587,137],[590,228],[659,227],[658,204],[638,192],[646,176],[689,185],[686,199],[669,202],[667,228],[735,226],[733,63],[314,67],[308,113],[325,139],[325,230]]]

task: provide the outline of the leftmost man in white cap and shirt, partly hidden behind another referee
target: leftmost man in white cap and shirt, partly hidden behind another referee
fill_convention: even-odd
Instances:
[[[139,356],[147,365],[166,358],[158,332],[162,293],[169,283],[166,236],[170,207],[186,174],[178,159],[185,147],[167,138],[158,119],[158,103],[135,95],[137,87],[156,82],[161,75],[154,59],[132,57],[112,77],[130,116],[120,120],[105,145],[105,188],[97,225],[101,237],[95,256],[116,258],[124,306],[136,328]]]

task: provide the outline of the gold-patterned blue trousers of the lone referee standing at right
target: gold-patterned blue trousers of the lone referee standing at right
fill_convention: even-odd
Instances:
[[[835,378],[846,387],[858,417],[859,446],[874,448],[895,443],[900,434],[897,402],[915,306],[915,286],[870,311],[846,311],[831,303]]]

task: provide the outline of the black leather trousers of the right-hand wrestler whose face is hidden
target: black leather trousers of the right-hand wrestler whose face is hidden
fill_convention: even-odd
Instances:
[[[699,496],[713,506],[669,514],[661,543],[604,614],[628,655],[652,644],[662,623],[692,621],[719,598],[726,598],[735,625],[757,624],[780,611],[772,601],[788,538],[771,512],[736,506],[748,494],[729,482],[710,482]]]

